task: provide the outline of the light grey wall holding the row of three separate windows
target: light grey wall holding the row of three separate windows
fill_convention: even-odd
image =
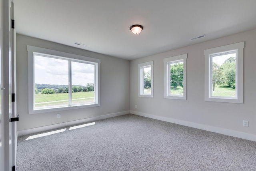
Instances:
[[[204,101],[204,50],[238,42],[245,42],[244,103]],[[130,110],[256,135],[255,50],[256,30],[250,30],[132,60],[130,62]],[[188,54],[187,100],[164,99],[163,60],[181,54]],[[154,61],[154,98],[138,97],[138,64],[148,61]],[[249,127],[243,127],[243,120],[249,121]]]

